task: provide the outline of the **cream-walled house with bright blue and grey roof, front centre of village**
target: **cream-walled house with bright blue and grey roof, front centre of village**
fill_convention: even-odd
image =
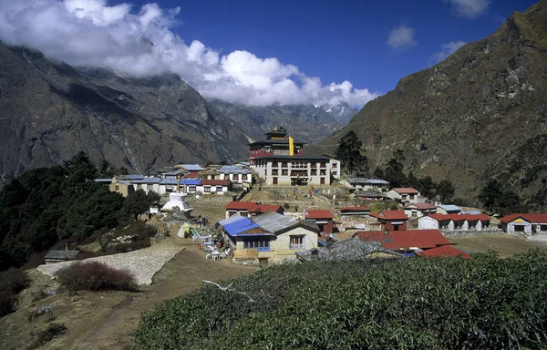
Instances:
[[[295,260],[295,252],[317,248],[319,229],[274,211],[253,219],[233,215],[219,224],[235,262],[258,261],[263,266]]]

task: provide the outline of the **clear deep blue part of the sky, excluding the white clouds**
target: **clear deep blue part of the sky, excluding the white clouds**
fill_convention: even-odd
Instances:
[[[493,33],[513,11],[535,1],[493,0],[477,17],[459,15],[443,0],[387,1],[160,1],[181,6],[174,30],[185,40],[258,57],[277,57],[323,81],[351,81],[386,93],[398,79],[430,66],[449,42],[472,42]],[[387,45],[397,26],[415,30],[416,46]]]

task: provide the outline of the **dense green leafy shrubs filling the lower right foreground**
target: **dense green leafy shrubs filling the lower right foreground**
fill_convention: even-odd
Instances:
[[[274,266],[144,314],[134,349],[542,348],[547,254]]]

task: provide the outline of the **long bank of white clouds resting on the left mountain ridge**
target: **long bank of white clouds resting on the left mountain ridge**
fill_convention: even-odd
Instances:
[[[197,40],[187,45],[170,30],[180,11],[147,4],[134,12],[106,0],[0,0],[0,40],[75,66],[138,77],[176,73],[205,98],[232,103],[362,107],[378,96],[348,81],[323,85],[274,57],[239,50],[222,56]]]

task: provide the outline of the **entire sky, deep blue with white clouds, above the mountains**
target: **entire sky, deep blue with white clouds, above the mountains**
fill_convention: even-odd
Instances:
[[[533,3],[0,0],[0,40],[75,66],[175,73],[205,98],[360,108]]]

